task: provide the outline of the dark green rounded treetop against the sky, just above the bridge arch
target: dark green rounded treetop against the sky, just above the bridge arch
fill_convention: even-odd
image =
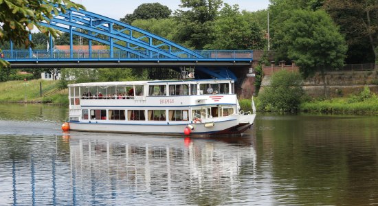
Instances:
[[[166,19],[172,14],[172,10],[166,5],[160,3],[142,3],[133,12],[126,14],[120,21],[124,23],[133,23],[137,19]]]

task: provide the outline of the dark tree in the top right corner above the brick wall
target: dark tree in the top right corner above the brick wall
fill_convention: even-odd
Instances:
[[[324,8],[346,36],[348,61],[378,62],[378,1],[326,0]]]

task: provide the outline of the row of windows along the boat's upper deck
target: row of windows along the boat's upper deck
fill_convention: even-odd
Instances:
[[[233,88],[233,87],[231,87]],[[204,94],[229,94],[229,83],[216,84],[161,84],[149,85],[147,95],[204,95]],[[135,95],[145,95],[144,85],[134,86],[109,86],[109,87],[71,87],[70,97],[82,98],[132,98]]]

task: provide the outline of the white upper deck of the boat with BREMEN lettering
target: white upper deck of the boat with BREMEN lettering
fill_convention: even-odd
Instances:
[[[68,87],[70,108],[236,104],[231,79],[91,82]]]

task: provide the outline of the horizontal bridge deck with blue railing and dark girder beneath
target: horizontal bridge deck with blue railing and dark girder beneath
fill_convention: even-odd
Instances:
[[[142,50],[140,55],[116,50],[5,50],[3,59],[12,68],[43,67],[179,67],[179,66],[226,66],[249,65],[253,60],[252,51],[194,51],[189,56],[180,51],[170,51],[175,58],[162,56],[153,51]]]

